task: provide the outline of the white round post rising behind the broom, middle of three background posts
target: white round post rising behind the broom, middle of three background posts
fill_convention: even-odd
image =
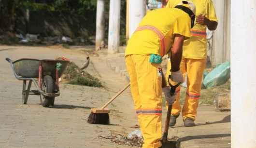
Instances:
[[[118,52],[120,42],[121,1],[110,0],[109,7],[108,53],[114,54]]]

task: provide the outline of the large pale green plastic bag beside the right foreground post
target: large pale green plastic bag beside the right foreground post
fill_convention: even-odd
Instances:
[[[209,74],[206,75],[203,85],[206,88],[212,88],[225,84],[230,78],[230,62],[225,62],[215,67]]]

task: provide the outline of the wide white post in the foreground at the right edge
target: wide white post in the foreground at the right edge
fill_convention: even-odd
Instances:
[[[231,148],[256,148],[256,0],[231,0]]]

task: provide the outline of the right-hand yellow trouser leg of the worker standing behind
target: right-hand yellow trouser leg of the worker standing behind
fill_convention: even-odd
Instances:
[[[196,119],[205,65],[206,59],[186,59],[187,91],[185,104],[182,109],[184,119]]]

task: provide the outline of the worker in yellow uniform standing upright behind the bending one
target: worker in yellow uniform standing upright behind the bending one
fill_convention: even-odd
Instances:
[[[198,100],[200,98],[201,81],[203,70],[206,66],[206,27],[209,30],[215,30],[217,27],[217,18],[212,0],[189,0],[192,1],[196,8],[195,26],[191,29],[191,38],[184,41],[183,56],[180,69],[182,73],[187,75],[187,90],[185,104],[183,108],[180,106],[180,93],[177,89],[176,101],[171,110],[170,126],[174,126],[176,119],[182,112],[184,126],[195,126],[197,115]],[[166,7],[174,8],[181,0],[169,0]],[[168,63],[168,69],[171,69]],[[168,70],[166,77],[170,75]]]

